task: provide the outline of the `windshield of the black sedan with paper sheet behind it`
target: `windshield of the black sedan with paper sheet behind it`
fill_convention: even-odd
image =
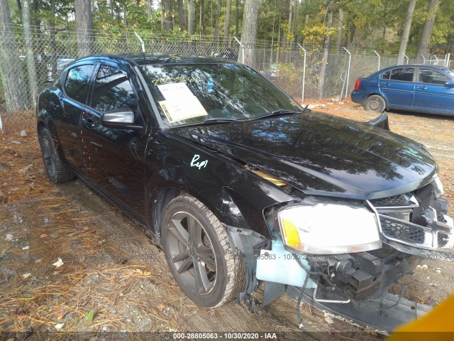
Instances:
[[[302,112],[297,102],[244,65],[145,65],[140,70],[169,126],[253,119],[277,110]]]

